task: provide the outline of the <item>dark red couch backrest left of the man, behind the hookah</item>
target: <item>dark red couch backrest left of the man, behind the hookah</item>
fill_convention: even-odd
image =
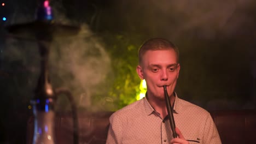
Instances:
[[[113,112],[79,112],[79,143],[106,143],[109,117]],[[34,118],[28,119],[27,143],[33,140]],[[73,143],[73,119],[71,113],[56,113],[55,116],[56,143]]]

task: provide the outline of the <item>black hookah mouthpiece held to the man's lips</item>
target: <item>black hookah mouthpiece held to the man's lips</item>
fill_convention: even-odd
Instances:
[[[173,118],[173,112],[172,112],[172,106],[170,103],[170,99],[166,90],[166,85],[164,86],[164,92],[165,92],[165,102],[166,102],[166,109],[168,112],[168,118],[170,121],[170,125],[171,125],[171,130],[172,130],[172,136],[173,138],[177,137],[176,131],[175,131],[175,122],[174,122],[174,118]]]

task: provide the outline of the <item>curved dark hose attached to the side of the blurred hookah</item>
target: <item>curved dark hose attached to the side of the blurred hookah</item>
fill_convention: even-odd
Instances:
[[[75,106],[74,98],[71,92],[67,88],[56,88],[55,93],[56,95],[59,95],[61,93],[66,94],[66,96],[68,97],[68,100],[71,103],[72,117],[73,117],[73,143],[78,144],[79,143],[78,115],[77,115],[77,107]]]

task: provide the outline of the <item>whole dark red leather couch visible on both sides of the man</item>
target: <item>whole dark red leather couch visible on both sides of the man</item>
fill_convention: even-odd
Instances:
[[[113,112],[79,112],[79,143],[106,143],[109,117]],[[224,144],[256,143],[256,110],[210,111]],[[70,113],[56,113],[57,143],[73,142]],[[27,143],[33,139],[33,117],[27,123]]]

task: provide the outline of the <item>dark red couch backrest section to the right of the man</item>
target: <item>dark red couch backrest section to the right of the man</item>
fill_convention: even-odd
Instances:
[[[256,110],[210,112],[222,143],[256,143]]]

